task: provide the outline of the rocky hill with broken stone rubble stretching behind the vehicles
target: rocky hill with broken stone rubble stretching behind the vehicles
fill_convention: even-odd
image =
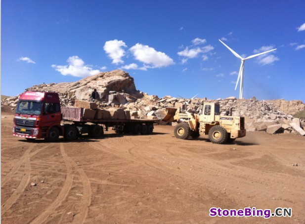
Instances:
[[[27,91],[55,91],[59,93],[62,106],[74,106],[75,99],[88,100],[93,89],[97,89],[99,98],[97,104],[100,108],[120,107],[131,111],[131,116],[138,118],[161,119],[165,115],[165,108],[172,106],[183,107],[187,112],[200,112],[204,102],[218,102],[222,114],[230,111],[232,115],[245,116],[249,131],[264,130],[270,125],[280,125],[281,132],[294,132],[290,123],[294,121],[302,126],[300,119],[296,120],[293,114],[305,111],[302,101],[253,99],[181,99],[171,96],[159,98],[136,90],[133,78],[122,70],[104,72],[89,76],[76,82],[49,83],[34,85]],[[4,105],[15,108],[18,96],[1,101]],[[283,127],[282,127],[283,126]],[[305,126],[305,125],[304,125]]]

